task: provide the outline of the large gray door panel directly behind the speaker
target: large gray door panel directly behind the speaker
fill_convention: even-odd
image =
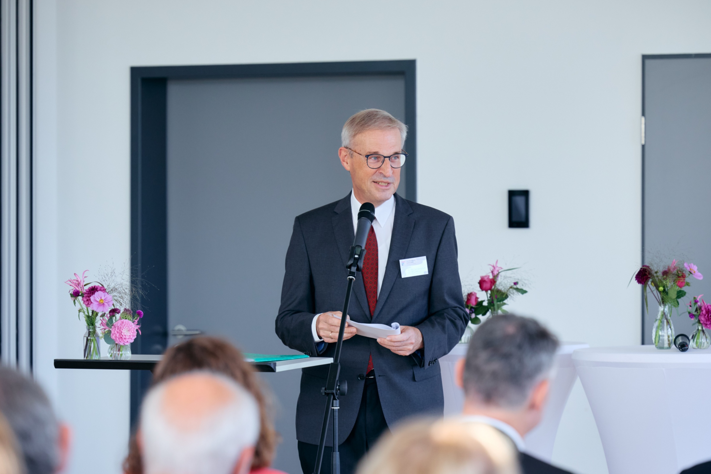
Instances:
[[[404,119],[402,75],[170,80],[167,101],[169,329],[294,353],[274,334],[294,217],[348,194],[341,127],[370,107]],[[289,473],[300,372],[262,375],[283,438],[274,467]]]

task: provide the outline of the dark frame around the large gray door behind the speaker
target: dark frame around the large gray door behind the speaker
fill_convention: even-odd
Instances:
[[[346,63],[284,63],[131,68],[131,266],[142,276],[146,317],[132,344],[137,354],[161,354],[168,344],[166,230],[166,90],[168,80],[256,77],[402,75],[405,78],[405,198],[417,199],[415,60]],[[274,315],[276,317],[276,315]],[[131,372],[131,425],[151,382],[147,371]]]

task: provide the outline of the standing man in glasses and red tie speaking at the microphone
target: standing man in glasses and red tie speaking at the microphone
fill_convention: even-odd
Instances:
[[[341,380],[348,382],[348,394],[340,399],[338,416],[343,474],[355,470],[387,426],[414,414],[442,414],[438,358],[456,345],[468,321],[454,221],[395,194],[407,159],[406,135],[405,124],[382,110],[348,119],[338,156],[351,173],[353,191],[296,217],[287,251],[277,335],[306,355],[332,357],[356,215],[362,203],[375,205],[348,316],[358,323],[400,323],[401,333],[375,340],[346,327]],[[296,438],[304,474],[314,470],[327,373],[328,367],[320,366],[301,374]],[[331,439],[329,433],[327,446]],[[321,473],[330,473],[330,459],[331,448],[326,448]]]

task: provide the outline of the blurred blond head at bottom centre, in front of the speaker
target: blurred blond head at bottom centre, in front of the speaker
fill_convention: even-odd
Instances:
[[[385,435],[358,474],[518,474],[513,444],[485,424],[412,421]]]

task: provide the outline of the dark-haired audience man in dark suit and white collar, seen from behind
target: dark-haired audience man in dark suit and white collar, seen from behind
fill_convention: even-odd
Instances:
[[[523,474],[568,472],[525,453],[523,441],[540,423],[557,348],[555,336],[534,319],[503,314],[477,328],[456,366],[464,420],[489,424],[511,438]]]

